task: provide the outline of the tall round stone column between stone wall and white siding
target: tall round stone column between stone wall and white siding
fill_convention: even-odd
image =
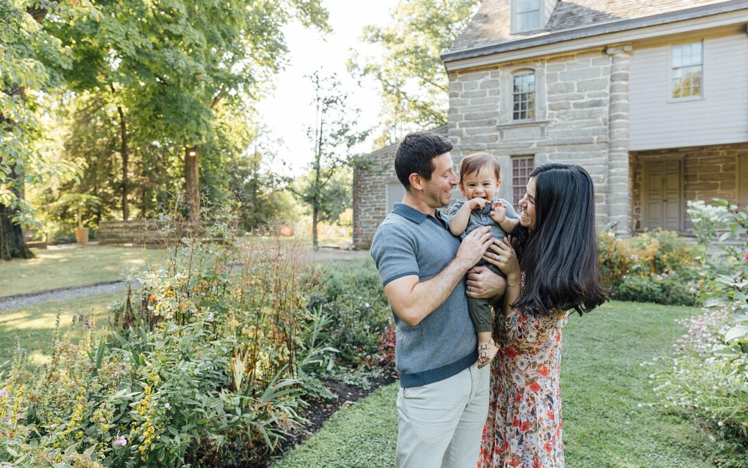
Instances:
[[[608,47],[610,106],[608,108],[607,214],[618,222],[616,234],[631,236],[631,175],[628,161],[628,67],[632,46]]]

